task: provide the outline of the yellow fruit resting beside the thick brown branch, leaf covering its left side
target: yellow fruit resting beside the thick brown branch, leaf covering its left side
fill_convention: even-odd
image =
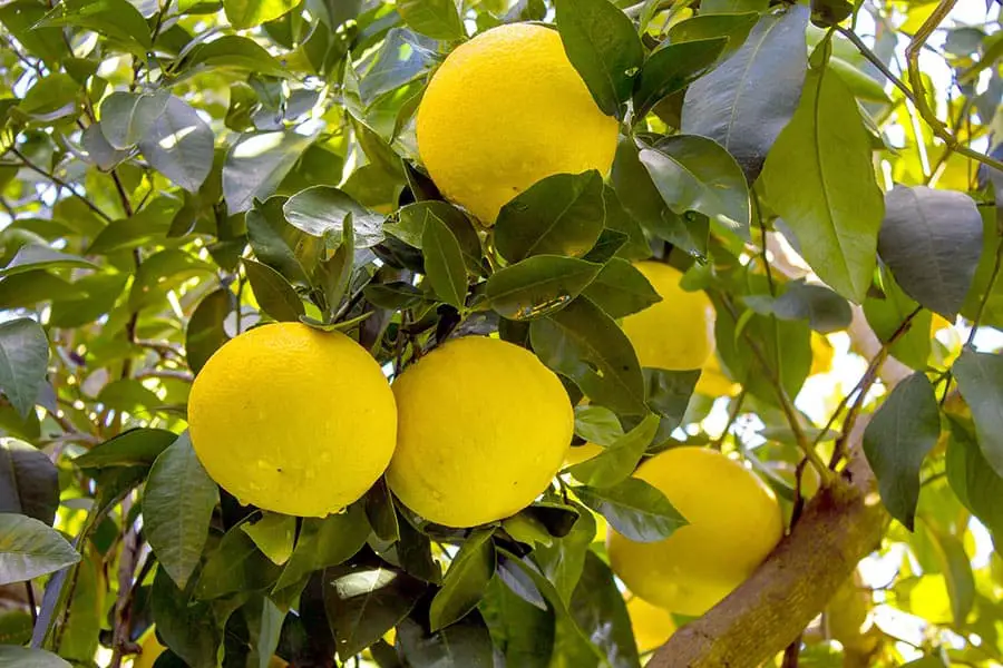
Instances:
[[[613,570],[651,603],[703,615],[744,581],[783,536],[772,490],[715,450],[666,450],[634,475],[660,489],[690,522],[649,543],[608,533]]]

